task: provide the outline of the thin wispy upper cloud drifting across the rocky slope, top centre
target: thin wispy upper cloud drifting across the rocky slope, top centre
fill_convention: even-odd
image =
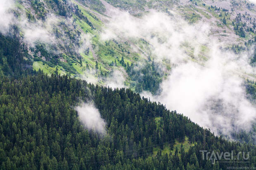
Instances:
[[[128,12],[119,11],[118,15],[112,16],[101,38],[143,39],[150,44],[155,60],[167,58],[172,63],[180,63],[187,56],[184,50],[187,44],[193,42],[189,45],[192,45],[197,55],[200,45],[207,43],[209,28],[204,23],[190,25],[175,12],[168,15],[152,10],[139,19]]]

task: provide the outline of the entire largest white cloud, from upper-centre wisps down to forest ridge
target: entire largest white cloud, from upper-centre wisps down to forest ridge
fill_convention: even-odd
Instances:
[[[249,65],[249,53],[237,55],[222,50],[228,44],[211,33],[215,27],[211,24],[189,24],[176,12],[150,11],[138,19],[119,11],[102,37],[148,42],[154,60],[167,59],[171,71],[166,70],[168,76],[161,83],[160,95],[142,95],[217,134],[230,135],[249,130],[256,119],[256,108],[247,99],[244,86],[244,78],[256,72]]]

